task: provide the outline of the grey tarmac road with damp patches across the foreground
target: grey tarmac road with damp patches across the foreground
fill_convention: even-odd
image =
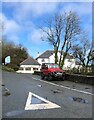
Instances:
[[[91,85],[66,80],[47,81],[37,75],[9,72],[3,72],[2,79],[3,118],[92,118],[94,95]],[[10,94],[5,94],[6,91]],[[42,109],[40,105],[38,109],[25,110],[29,93],[59,107]],[[41,104],[38,99],[32,100],[34,106],[37,102]]]

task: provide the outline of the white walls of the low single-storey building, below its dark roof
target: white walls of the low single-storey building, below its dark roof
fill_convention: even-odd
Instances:
[[[41,66],[40,65],[21,65],[21,68],[23,70],[16,71],[17,73],[34,73],[34,71],[40,71]],[[30,67],[31,70],[26,70],[27,67]],[[33,70],[34,68],[37,68],[38,70]]]

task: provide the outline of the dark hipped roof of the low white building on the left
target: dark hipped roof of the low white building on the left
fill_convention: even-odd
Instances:
[[[40,65],[40,64],[34,58],[29,57],[23,62],[21,62],[20,65]]]

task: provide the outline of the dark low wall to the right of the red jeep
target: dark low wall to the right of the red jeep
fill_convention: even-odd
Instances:
[[[94,85],[94,76],[66,74],[66,80]]]

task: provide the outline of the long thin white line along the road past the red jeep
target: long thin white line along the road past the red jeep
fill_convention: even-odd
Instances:
[[[39,80],[39,81],[41,81],[41,82],[45,82],[45,83],[50,84],[50,85],[62,87],[62,88],[68,89],[68,90],[76,91],[76,92],[83,93],[83,94],[87,94],[87,95],[94,95],[94,94],[92,94],[92,93],[90,93],[90,92],[86,92],[86,91],[82,91],[82,90],[73,89],[73,88],[70,88],[70,87],[63,86],[63,85],[57,85],[57,84],[55,84],[55,83],[43,81],[43,80],[41,80],[41,79],[37,79],[37,78],[34,78],[34,77],[32,77],[32,78],[35,79],[35,80]]]

